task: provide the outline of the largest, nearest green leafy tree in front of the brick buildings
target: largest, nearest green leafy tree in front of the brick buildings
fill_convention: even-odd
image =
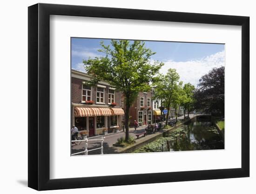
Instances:
[[[88,74],[92,75],[89,84],[95,85],[105,80],[124,94],[125,97],[125,140],[129,139],[129,109],[139,91],[150,91],[149,83],[158,74],[163,63],[150,57],[155,54],[145,47],[143,41],[111,40],[111,45],[101,42],[104,57],[83,60]]]

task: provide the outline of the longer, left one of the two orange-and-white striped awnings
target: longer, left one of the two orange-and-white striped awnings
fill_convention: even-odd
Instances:
[[[110,115],[113,115],[110,108],[74,107],[75,117],[110,116]]]

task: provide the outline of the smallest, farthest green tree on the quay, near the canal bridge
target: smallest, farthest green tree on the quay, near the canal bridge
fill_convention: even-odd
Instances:
[[[185,103],[183,103],[184,104],[184,118],[185,118],[186,109],[188,110],[188,116],[189,116],[189,111],[191,110],[193,102],[195,101],[195,98],[194,98],[195,86],[193,86],[190,83],[187,83],[184,85],[183,91],[186,96]]]

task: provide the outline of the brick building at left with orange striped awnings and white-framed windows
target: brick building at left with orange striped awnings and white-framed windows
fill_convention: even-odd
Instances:
[[[88,86],[88,74],[72,70],[71,100],[72,125],[88,136],[122,129],[124,114],[121,107],[121,92],[107,82],[100,81],[96,86]]]

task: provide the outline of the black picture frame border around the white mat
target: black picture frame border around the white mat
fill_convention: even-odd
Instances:
[[[242,167],[217,170],[53,179],[50,174],[50,15],[242,26]],[[201,13],[36,4],[28,7],[28,187],[102,187],[249,176],[249,17]]]

